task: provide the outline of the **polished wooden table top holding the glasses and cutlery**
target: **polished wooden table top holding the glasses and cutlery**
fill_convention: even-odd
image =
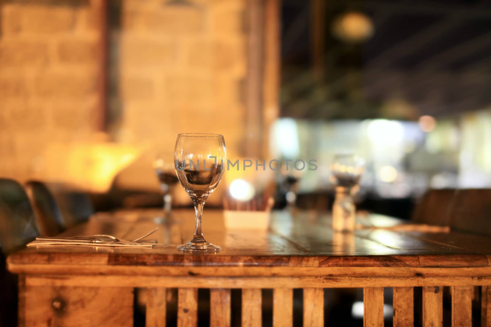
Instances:
[[[175,210],[173,221],[166,222],[154,219],[159,213],[158,210],[134,210],[97,214],[61,236],[110,234],[131,240],[158,226],[159,230],[151,238],[156,238],[159,243],[178,245],[191,239],[193,210]],[[263,219],[260,216],[254,218],[254,212],[250,215],[250,221]],[[227,217],[233,219],[234,213]],[[220,245],[221,252],[183,253],[161,246],[39,246],[15,252],[7,261],[10,271],[24,274],[193,276],[205,274],[203,269],[207,267],[208,274],[215,275],[221,274],[219,268],[223,267],[241,268],[237,274],[252,274],[258,267],[271,268],[264,270],[264,274],[285,274],[285,268],[314,267],[487,267],[489,274],[490,238],[411,226],[395,218],[365,214],[357,218],[354,233],[335,233],[327,213],[273,211],[267,229],[227,229],[223,211],[205,207],[205,238]],[[183,270],[183,267],[187,269]],[[190,270],[190,267],[196,270]],[[301,274],[310,274],[310,271],[303,270]],[[230,273],[223,274],[228,276]]]

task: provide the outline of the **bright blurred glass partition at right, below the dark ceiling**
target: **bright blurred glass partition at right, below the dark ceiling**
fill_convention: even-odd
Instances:
[[[300,193],[332,189],[329,164],[340,152],[366,159],[361,191],[381,198],[419,196],[428,188],[490,187],[491,112],[431,124],[280,118],[272,127],[270,155],[292,162],[314,160],[316,169],[305,169],[300,178]]]

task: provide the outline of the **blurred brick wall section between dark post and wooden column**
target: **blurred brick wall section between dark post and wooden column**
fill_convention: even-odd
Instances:
[[[223,134],[231,158],[244,146],[246,0],[188,2],[122,2],[115,138],[148,149],[120,176],[133,187],[155,184],[151,152],[172,160],[178,133]]]

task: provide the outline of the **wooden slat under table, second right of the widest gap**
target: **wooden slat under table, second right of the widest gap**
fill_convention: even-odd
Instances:
[[[414,326],[414,289],[394,287],[394,327]]]

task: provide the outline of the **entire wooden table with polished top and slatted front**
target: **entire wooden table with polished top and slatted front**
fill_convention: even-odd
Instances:
[[[253,214],[253,213],[251,213]],[[191,239],[191,210],[174,221],[149,211],[96,215],[63,235],[136,238],[155,226],[160,243]],[[252,217],[252,216],[251,216]],[[274,326],[292,325],[292,292],[303,288],[304,326],[323,326],[324,288],[363,287],[364,325],[383,326],[383,287],[394,288],[394,325],[413,325],[413,287],[423,286],[424,326],[442,326],[442,287],[452,289],[452,325],[471,326],[473,286],[482,287],[482,326],[491,326],[491,241],[456,232],[408,230],[381,215],[334,233],[327,214],[273,212],[268,230],[225,229],[205,209],[207,240],[218,253],[166,247],[44,246],[16,252],[23,326],[133,326],[134,288],[147,288],[146,324],[164,326],[165,288],[178,288],[178,325],[195,326],[197,288],[211,289],[211,326],[229,326],[230,289],[242,289],[242,325],[261,325],[261,289],[273,288]],[[410,228],[409,228],[410,229]]]

